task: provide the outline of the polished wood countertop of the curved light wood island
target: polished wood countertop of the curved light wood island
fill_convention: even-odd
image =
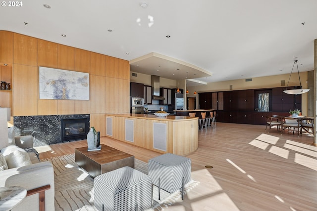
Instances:
[[[198,119],[198,117],[175,116],[175,115],[168,115],[167,117],[158,117],[154,114],[106,114],[106,116],[163,120],[163,121],[187,121],[187,120]]]

